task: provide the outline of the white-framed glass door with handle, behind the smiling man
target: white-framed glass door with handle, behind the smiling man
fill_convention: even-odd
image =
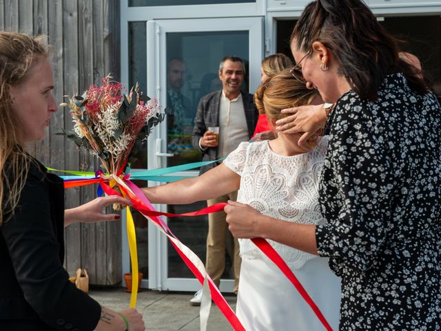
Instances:
[[[193,148],[191,141],[194,117],[201,97],[222,88],[218,67],[227,55],[243,59],[247,72],[243,90],[254,92],[260,81],[259,66],[263,57],[262,18],[147,22],[147,94],[158,98],[167,114],[165,122],[149,137],[148,168],[201,161],[201,152]],[[183,174],[197,175],[198,170]],[[205,201],[200,201],[191,205],[156,205],[155,208],[180,214],[205,206]],[[205,263],[207,217],[173,218],[167,219],[167,223],[176,237]],[[154,225],[150,226],[149,287],[198,290],[198,281],[168,239],[153,228]],[[230,279],[230,265],[227,265],[221,290],[232,291]]]

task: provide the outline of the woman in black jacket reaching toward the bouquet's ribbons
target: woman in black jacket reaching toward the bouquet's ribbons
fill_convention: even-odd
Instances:
[[[48,50],[39,39],[0,32],[0,330],[145,330],[134,309],[102,307],[63,269],[63,228],[118,219],[119,197],[64,210],[63,180],[24,152],[43,140],[57,111]]]

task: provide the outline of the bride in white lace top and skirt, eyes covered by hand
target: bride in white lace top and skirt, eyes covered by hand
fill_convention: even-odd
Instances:
[[[283,117],[284,108],[319,103],[289,70],[263,83],[254,100],[269,123]],[[325,110],[323,110],[325,111]],[[324,222],[318,203],[318,183],[328,137],[312,137],[299,147],[300,134],[279,134],[271,141],[240,143],[216,168],[194,179],[143,188],[152,203],[192,203],[238,190],[238,202],[262,214],[305,224]],[[236,313],[248,331],[323,330],[309,305],[285,275],[249,239],[240,239],[242,266]],[[269,241],[338,330],[340,279],[328,259]]]

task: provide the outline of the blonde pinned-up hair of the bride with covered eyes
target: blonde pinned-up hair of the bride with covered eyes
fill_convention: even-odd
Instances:
[[[293,77],[290,69],[285,69],[260,84],[254,93],[254,103],[260,114],[266,114],[271,127],[274,127],[276,121],[287,117],[282,114],[283,109],[309,105],[318,95],[317,90],[309,90],[305,83]],[[305,148],[314,148],[318,135],[309,138]]]

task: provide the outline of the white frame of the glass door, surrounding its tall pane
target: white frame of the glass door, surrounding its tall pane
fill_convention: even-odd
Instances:
[[[167,32],[226,32],[247,31],[249,33],[249,89],[254,92],[260,83],[260,61],[263,59],[263,17],[232,17],[210,19],[170,19],[148,20],[147,25],[147,95],[152,99],[166,101],[167,79]],[[128,43],[125,41],[128,49]],[[123,74],[128,77],[127,68]],[[128,80],[128,79],[127,79]],[[163,103],[164,104],[164,103]],[[165,123],[156,126],[147,141],[147,167],[149,169],[162,168],[165,166],[167,146],[167,128]],[[197,175],[197,172],[190,172]],[[188,173],[187,173],[188,174]],[[158,185],[149,182],[149,185]],[[167,211],[166,205],[154,205],[156,210]],[[166,221],[166,219],[165,219]],[[130,261],[127,252],[127,238],[125,234],[125,222],[123,222],[123,272],[130,269]],[[168,239],[161,234],[152,222],[148,228],[148,251],[149,251],[149,275],[148,281],[141,284],[143,287],[155,290],[188,290],[194,291],[200,288],[196,279],[167,278],[167,246]],[[233,291],[233,280],[223,280],[220,290]]]

